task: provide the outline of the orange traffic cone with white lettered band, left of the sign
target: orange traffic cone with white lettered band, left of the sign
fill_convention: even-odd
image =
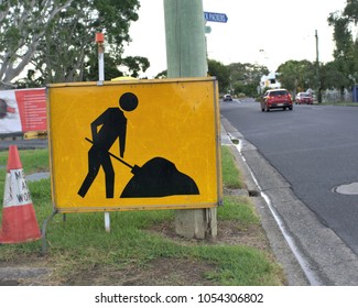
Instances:
[[[31,195],[15,145],[9,147],[3,194],[0,243],[22,243],[41,239]]]

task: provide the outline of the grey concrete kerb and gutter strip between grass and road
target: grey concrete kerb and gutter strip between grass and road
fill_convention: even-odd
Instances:
[[[357,255],[295,197],[290,184],[225,118],[221,128],[224,134],[236,136],[241,143],[236,154],[239,168],[248,185],[253,182],[260,191],[261,198],[253,200],[289,284],[297,285],[306,279],[310,285],[358,285]],[[299,273],[297,282],[292,271]]]

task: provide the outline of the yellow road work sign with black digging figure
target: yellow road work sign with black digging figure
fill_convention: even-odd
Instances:
[[[50,85],[47,103],[59,212],[220,204],[214,78]]]

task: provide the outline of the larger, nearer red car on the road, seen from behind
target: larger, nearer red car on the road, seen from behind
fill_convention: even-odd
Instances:
[[[261,100],[261,111],[269,112],[271,109],[292,110],[293,102],[290,92],[286,89],[268,90]]]

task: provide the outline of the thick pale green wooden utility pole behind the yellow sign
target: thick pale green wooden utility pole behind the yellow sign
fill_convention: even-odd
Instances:
[[[167,77],[206,77],[202,0],[164,0]],[[175,111],[173,111],[175,112]],[[185,238],[215,238],[216,208],[176,210],[175,231]]]

